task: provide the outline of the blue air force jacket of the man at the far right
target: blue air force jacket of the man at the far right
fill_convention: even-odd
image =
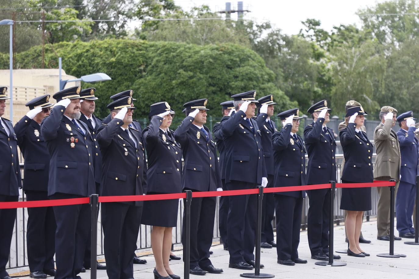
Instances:
[[[397,132],[400,142],[400,181],[416,184],[418,174],[418,140],[415,138],[415,127],[409,127],[408,132],[400,129]]]

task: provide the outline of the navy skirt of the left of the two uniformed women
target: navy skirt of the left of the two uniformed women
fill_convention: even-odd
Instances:
[[[150,192],[147,195],[166,194]],[[141,224],[158,227],[176,227],[179,199],[145,200],[142,206]]]

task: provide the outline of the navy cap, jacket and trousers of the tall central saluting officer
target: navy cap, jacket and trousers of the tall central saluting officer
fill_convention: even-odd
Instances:
[[[254,99],[256,91],[231,96],[234,100]],[[238,111],[221,123],[225,146],[225,187],[228,190],[253,189],[267,177],[261,132],[255,120]],[[256,195],[230,196],[227,219],[228,252],[230,264],[254,261],[256,228]],[[241,264],[241,265],[242,265]],[[247,265],[247,264],[246,264]]]

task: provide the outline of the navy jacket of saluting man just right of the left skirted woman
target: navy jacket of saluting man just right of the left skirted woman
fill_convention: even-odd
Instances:
[[[185,161],[182,187],[201,192],[216,191],[222,188],[222,184],[215,143],[207,127],[204,126],[209,136],[208,142],[205,134],[192,121],[194,118],[187,116],[175,131],[175,139],[182,146]]]

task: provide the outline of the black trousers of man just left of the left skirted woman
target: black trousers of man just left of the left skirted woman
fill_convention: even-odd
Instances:
[[[121,202],[102,204],[106,273],[112,279],[134,277],[132,254],[137,248],[142,206]]]

